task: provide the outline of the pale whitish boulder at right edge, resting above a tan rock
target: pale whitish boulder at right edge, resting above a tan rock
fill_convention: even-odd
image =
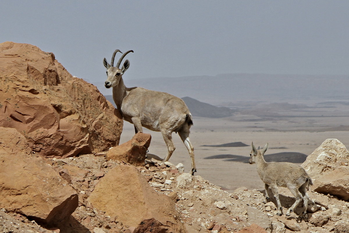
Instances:
[[[337,139],[326,139],[313,153],[307,156],[302,164],[313,181],[319,176],[331,172],[341,165],[341,162],[348,162],[349,152],[347,148]]]

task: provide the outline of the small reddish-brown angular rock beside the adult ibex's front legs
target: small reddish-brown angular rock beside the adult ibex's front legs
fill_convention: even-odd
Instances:
[[[117,147],[110,148],[106,154],[107,160],[119,160],[135,166],[143,166],[151,136],[149,133],[136,133],[133,138]]]

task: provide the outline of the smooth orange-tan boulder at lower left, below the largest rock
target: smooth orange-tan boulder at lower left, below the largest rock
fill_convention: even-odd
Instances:
[[[50,161],[31,154],[27,140],[16,129],[0,127],[0,161],[0,208],[53,226],[76,209],[76,191]]]

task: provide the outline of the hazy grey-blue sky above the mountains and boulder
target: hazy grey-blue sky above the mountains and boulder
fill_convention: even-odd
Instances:
[[[105,81],[104,57],[134,50],[124,79],[219,73],[349,74],[349,1],[8,1],[0,42],[53,52]],[[116,57],[116,62],[119,57]]]

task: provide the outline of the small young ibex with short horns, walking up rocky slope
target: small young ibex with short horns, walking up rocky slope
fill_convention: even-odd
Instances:
[[[297,205],[303,199],[303,211],[298,218],[306,218],[306,209],[309,196],[306,193],[308,185],[313,182],[310,176],[305,172],[304,168],[290,162],[266,162],[263,158],[264,153],[268,149],[268,143],[261,150],[256,149],[252,143],[251,158],[249,163],[257,163],[257,172],[261,180],[265,183],[265,201],[268,202],[268,188],[272,189],[277,205],[277,215],[282,215],[282,207],[277,192],[277,187],[287,187],[296,197],[295,203],[288,209],[286,216],[290,216],[290,212],[294,211]]]

